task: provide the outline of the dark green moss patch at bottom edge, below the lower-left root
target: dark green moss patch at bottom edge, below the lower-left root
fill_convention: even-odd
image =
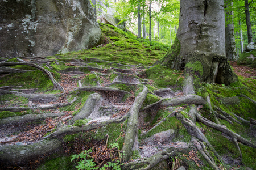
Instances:
[[[63,170],[69,170],[69,169],[76,169],[74,168],[75,164],[71,162],[71,156],[62,156],[58,158],[54,158],[51,160],[47,160],[45,163],[40,165],[37,170],[57,170],[57,169],[63,169]]]

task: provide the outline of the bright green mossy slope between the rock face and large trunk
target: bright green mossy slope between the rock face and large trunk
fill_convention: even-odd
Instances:
[[[142,65],[152,65],[169,48],[168,45],[161,44],[157,41],[137,39],[132,33],[122,31],[108,24],[100,23],[100,27],[105,39],[109,41],[108,44],[89,50],[59,54],[57,57],[62,60],[81,58],[86,61],[86,58],[98,58],[125,65],[138,65],[139,63]],[[55,57],[49,58],[53,59]],[[106,63],[104,65],[106,66]]]

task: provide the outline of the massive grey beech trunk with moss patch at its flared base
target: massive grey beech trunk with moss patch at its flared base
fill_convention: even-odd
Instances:
[[[203,82],[236,82],[226,59],[224,2],[181,0],[177,40],[159,62],[178,70],[185,68]]]

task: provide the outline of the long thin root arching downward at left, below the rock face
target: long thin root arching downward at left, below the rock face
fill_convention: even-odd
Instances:
[[[3,66],[16,66],[16,65],[26,65],[26,66],[31,66],[31,67],[35,67],[36,69],[39,69],[41,71],[43,71],[44,73],[46,73],[49,77],[49,79],[51,79],[54,87],[58,88],[59,90],[65,92],[64,88],[55,80],[55,78],[53,78],[51,72],[49,72],[48,70],[44,69],[43,67],[36,65],[34,63],[28,63],[28,62],[1,62],[0,63],[0,67]]]

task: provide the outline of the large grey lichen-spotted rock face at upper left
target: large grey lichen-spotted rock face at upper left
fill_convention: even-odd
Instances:
[[[1,57],[50,56],[98,45],[89,0],[0,1]]]

